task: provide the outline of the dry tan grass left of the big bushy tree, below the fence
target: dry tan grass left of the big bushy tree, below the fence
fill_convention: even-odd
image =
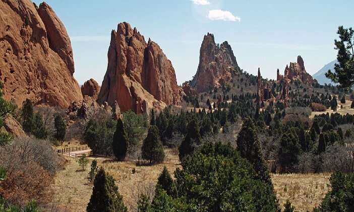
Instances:
[[[165,155],[166,158],[178,158],[171,149],[165,149]],[[66,207],[70,211],[86,211],[93,186],[88,180],[92,159],[89,159],[86,170],[82,171],[77,163],[78,158],[69,156],[65,158],[67,159],[65,168],[58,171],[54,179],[54,201],[58,206]],[[136,166],[135,162],[115,162],[109,158],[97,158],[97,164],[113,176],[129,211],[136,211],[140,193],[154,195],[155,183],[164,166],[172,176],[174,170],[181,167],[177,161],[167,161],[155,166]]]

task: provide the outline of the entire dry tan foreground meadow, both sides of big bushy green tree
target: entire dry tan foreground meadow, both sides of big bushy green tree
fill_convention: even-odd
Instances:
[[[165,149],[166,157],[178,158],[171,149]],[[55,176],[53,189],[55,201],[70,211],[85,211],[92,193],[92,184],[88,180],[90,166],[85,171],[77,163],[77,158],[65,156],[67,164]],[[92,159],[89,160],[90,163]],[[179,162],[165,162],[155,166],[136,166],[134,162],[114,162],[109,158],[97,158],[98,166],[103,167],[116,180],[120,193],[129,211],[136,211],[136,202],[140,193],[154,195],[154,187],[164,166],[170,174],[181,166]],[[283,207],[286,199],[297,211],[312,210],[328,191],[329,174],[272,174],[274,189]]]

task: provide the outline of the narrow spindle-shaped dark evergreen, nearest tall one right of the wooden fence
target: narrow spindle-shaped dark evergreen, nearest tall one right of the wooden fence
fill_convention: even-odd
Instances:
[[[118,161],[124,161],[128,151],[128,138],[122,119],[118,119],[112,141],[112,150]]]

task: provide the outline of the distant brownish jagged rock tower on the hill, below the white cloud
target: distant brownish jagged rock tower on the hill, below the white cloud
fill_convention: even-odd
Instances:
[[[197,92],[206,92],[222,81],[227,82],[235,71],[240,71],[231,46],[227,41],[220,46],[215,43],[214,35],[204,35],[200,47],[199,65],[191,86]]]

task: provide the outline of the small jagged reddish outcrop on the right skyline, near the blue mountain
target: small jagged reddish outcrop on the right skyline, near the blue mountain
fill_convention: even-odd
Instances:
[[[290,82],[299,80],[305,84],[310,85],[315,83],[315,80],[312,78],[312,76],[306,72],[304,60],[301,56],[298,56],[297,63],[290,63],[289,66],[286,65],[284,70],[284,79]]]

